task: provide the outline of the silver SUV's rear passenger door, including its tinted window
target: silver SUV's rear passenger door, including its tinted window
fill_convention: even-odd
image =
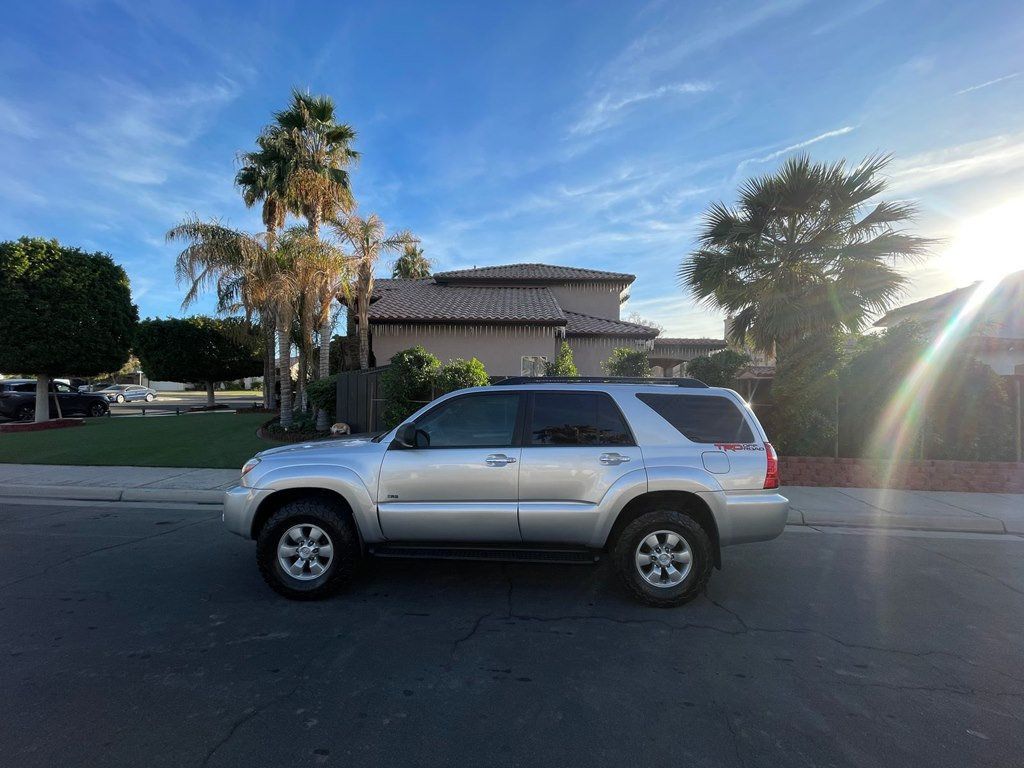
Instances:
[[[519,470],[523,541],[587,544],[608,488],[636,471],[643,457],[607,393],[531,392]]]

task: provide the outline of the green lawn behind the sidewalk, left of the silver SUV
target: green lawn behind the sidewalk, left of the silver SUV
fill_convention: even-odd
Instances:
[[[86,419],[84,427],[0,434],[0,463],[238,469],[281,443],[256,430],[266,414]]]

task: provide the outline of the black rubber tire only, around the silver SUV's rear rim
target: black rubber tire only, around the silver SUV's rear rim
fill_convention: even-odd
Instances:
[[[657,530],[671,530],[689,545],[692,564],[689,573],[673,587],[655,587],[637,569],[635,558],[640,543]],[[714,565],[711,540],[692,518],[672,509],[646,512],[625,528],[615,541],[613,560],[626,589],[640,602],[658,608],[672,608],[699,595],[711,579]]]

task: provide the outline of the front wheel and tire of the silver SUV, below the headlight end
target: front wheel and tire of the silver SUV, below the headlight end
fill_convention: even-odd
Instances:
[[[351,581],[358,553],[352,523],[325,499],[297,499],[270,515],[256,543],[264,581],[292,600],[318,600]]]

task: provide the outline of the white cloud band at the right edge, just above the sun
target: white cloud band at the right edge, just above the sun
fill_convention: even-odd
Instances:
[[[977,176],[1024,169],[1024,133],[945,146],[893,163],[889,188],[916,191]]]

